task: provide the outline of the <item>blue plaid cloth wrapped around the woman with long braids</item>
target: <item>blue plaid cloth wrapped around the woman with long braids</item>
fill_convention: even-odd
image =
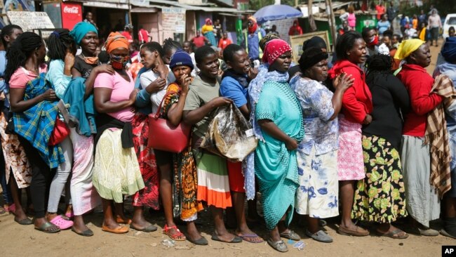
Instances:
[[[36,79],[27,82],[24,100],[35,98],[49,88],[52,88],[51,84],[46,83],[45,74],[41,73]],[[51,169],[65,162],[60,145],[48,145],[58,115],[57,103],[43,100],[29,110],[13,115],[15,133],[32,143]]]

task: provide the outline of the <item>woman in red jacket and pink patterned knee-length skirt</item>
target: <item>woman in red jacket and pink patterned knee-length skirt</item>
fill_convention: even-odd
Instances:
[[[340,58],[330,70],[331,79],[346,73],[354,79],[354,84],[342,97],[342,114],[339,117],[339,150],[337,153],[337,176],[340,183],[342,221],[339,232],[342,235],[366,236],[369,231],[351,221],[351,208],[354,199],[354,183],[366,174],[361,147],[361,126],[372,121],[372,95],[366,84],[366,76],[358,67],[366,61],[366,42],[358,32],[349,31],[337,39],[335,51]]]

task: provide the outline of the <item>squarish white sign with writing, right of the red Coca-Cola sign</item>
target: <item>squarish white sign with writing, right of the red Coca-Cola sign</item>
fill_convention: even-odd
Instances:
[[[163,38],[174,38],[174,34],[185,34],[185,9],[161,8]]]

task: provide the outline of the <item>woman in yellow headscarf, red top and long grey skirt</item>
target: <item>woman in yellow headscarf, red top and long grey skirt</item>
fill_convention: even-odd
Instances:
[[[440,216],[438,195],[429,183],[431,157],[429,145],[424,145],[427,114],[440,105],[443,98],[430,93],[434,79],[424,69],[431,63],[431,53],[426,42],[420,39],[402,41],[395,59],[405,59],[406,64],[397,74],[410,95],[412,110],[404,116],[401,162],[405,184],[407,211],[415,220],[418,235],[436,236],[437,230],[429,228],[429,220]]]

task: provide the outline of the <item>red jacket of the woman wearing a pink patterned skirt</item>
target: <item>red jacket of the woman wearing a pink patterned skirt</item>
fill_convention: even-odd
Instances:
[[[342,97],[342,114],[349,121],[362,124],[366,114],[370,114],[373,110],[372,95],[366,84],[366,74],[349,60],[336,62],[328,74],[331,79],[335,79],[342,72],[351,74],[355,79],[353,86],[349,87]]]

